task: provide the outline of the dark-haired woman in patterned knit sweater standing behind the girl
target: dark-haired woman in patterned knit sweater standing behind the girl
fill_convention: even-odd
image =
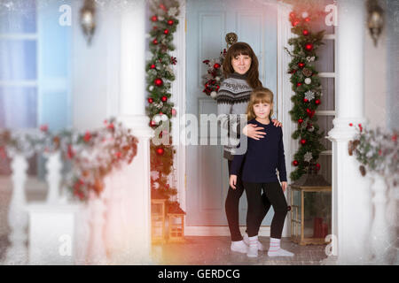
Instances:
[[[254,88],[262,88],[262,82],[259,80],[258,72],[258,58],[254,54],[251,46],[245,42],[236,42],[231,45],[227,50],[226,57],[223,60],[223,75],[226,78],[223,80],[221,88],[216,96],[217,101],[217,114],[245,114],[246,106],[249,101],[249,97]],[[228,117],[229,118],[229,117]],[[227,129],[230,133],[230,120],[226,119],[222,127]],[[273,120],[276,126],[281,126],[278,120]],[[243,133],[248,137],[260,140],[264,133],[260,130],[263,126],[255,126],[252,124],[247,125],[243,129]],[[239,125],[236,129],[239,132]],[[239,133],[236,136],[239,136]],[[231,168],[231,150],[234,147],[231,145],[224,146],[223,157],[228,160],[229,174]],[[229,187],[225,210],[229,229],[231,233],[231,250],[241,253],[247,252],[247,244],[249,244],[248,236],[243,237],[239,231],[239,198],[244,192],[242,186],[240,172],[237,173],[237,188],[232,189]],[[262,223],[262,219],[270,209],[269,200],[263,195],[263,209],[262,215],[259,216],[259,225]],[[258,249],[262,250],[262,244],[258,241]]]

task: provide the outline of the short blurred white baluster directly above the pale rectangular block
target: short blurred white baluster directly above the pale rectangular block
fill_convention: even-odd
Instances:
[[[61,181],[62,162],[60,152],[57,151],[48,156],[46,163],[46,180],[49,185],[47,203],[59,203],[59,187]]]

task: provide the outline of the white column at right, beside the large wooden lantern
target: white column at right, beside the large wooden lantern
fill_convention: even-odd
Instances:
[[[371,198],[367,179],[348,155],[354,126],[364,125],[364,28],[362,0],[338,2],[336,118],[332,141],[332,233],[338,241],[338,264],[367,261]],[[354,126],[349,126],[353,123]]]

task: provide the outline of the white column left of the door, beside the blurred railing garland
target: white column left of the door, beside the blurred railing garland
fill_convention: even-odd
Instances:
[[[124,264],[151,262],[150,138],[145,115],[145,0],[124,5],[121,11],[121,94],[118,120],[138,139],[137,156],[121,169],[129,247]],[[126,210],[128,211],[128,210]]]

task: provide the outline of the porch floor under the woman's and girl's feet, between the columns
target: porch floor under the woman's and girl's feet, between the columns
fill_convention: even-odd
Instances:
[[[167,243],[153,245],[155,264],[166,265],[320,265],[323,262],[325,245],[300,246],[287,238],[281,240],[281,248],[295,254],[293,257],[269,257],[270,238],[260,237],[266,251],[256,258],[246,254],[231,252],[230,237],[186,237],[184,243]]]

